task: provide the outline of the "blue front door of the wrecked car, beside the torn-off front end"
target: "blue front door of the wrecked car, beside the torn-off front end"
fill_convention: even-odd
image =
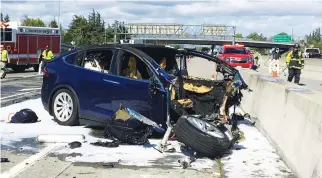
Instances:
[[[156,79],[156,92],[151,93],[150,78],[133,79],[122,76],[123,56],[125,53],[135,56],[142,64],[144,63],[150,78]],[[144,61],[144,62],[143,62]],[[148,64],[141,56],[130,51],[120,50],[116,60],[119,70],[117,70],[117,82],[115,94],[113,96],[113,110],[119,109],[120,105],[133,109],[145,117],[154,120],[159,124],[165,124],[166,118],[166,92],[161,82],[157,79],[156,73],[152,69],[152,65]]]

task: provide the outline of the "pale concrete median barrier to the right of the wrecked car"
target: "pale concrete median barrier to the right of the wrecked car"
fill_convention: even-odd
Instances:
[[[301,178],[322,177],[322,93],[253,71],[241,71],[253,92],[242,108]]]

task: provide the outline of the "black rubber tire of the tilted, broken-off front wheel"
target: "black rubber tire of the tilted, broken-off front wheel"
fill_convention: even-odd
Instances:
[[[221,156],[222,153],[231,148],[231,142],[229,141],[228,136],[222,131],[218,129],[218,131],[223,134],[222,138],[204,133],[192,125],[187,120],[188,117],[191,116],[181,116],[174,127],[174,133],[178,138],[178,141],[184,143],[201,155],[210,158]]]

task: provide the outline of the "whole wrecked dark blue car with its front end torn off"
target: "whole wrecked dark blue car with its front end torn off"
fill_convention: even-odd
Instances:
[[[188,56],[215,62],[224,78],[189,76]],[[205,53],[155,45],[88,46],[55,58],[43,75],[43,106],[61,125],[105,127],[141,118],[162,130],[161,150],[174,132],[179,141],[209,157],[241,138],[228,109],[239,105],[241,90],[248,86],[238,70]],[[120,116],[120,110],[128,115]]]

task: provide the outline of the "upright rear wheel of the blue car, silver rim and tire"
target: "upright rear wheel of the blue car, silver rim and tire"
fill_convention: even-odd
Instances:
[[[60,125],[74,126],[79,124],[78,107],[74,94],[67,89],[58,90],[51,104],[55,121]]]

